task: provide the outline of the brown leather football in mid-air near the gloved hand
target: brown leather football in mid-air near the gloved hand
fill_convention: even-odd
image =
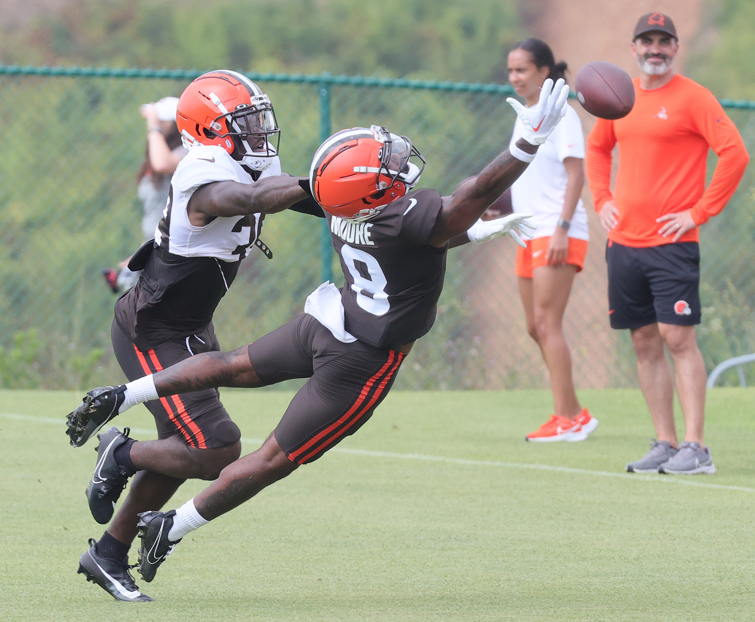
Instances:
[[[579,70],[575,91],[582,107],[601,119],[621,119],[634,106],[634,85],[629,74],[603,60],[587,63]]]

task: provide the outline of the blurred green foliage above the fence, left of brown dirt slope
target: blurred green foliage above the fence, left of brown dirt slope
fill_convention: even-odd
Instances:
[[[505,80],[516,0],[71,0],[0,39],[17,64]]]

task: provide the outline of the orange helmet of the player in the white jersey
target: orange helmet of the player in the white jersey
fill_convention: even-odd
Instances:
[[[280,129],[270,97],[235,71],[211,71],[187,86],[176,123],[187,149],[217,145],[256,171],[278,155]]]

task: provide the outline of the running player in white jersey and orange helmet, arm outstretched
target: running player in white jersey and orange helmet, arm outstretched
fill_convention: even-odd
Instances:
[[[197,78],[180,97],[176,122],[189,152],[171,180],[155,239],[131,258],[130,269],[143,272],[116,303],[112,324],[113,350],[129,380],[220,350],[212,316],[239,263],[254,245],[272,258],[260,241],[266,214],[292,208],[324,217],[309,180],[281,173],[273,105],[244,75],[214,71]],[[85,405],[108,400],[115,404],[112,393],[91,392]],[[128,574],[137,514],[162,507],[186,479],[216,479],[241,452],[239,428],[215,389],[146,407],[158,440],[135,442],[128,430],[114,427],[98,435],[97,467],[87,489],[94,519],[106,524],[135,474],[116,518],[99,541],[90,540],[79,566],[88,580],[124,601],[151,600]],[[109,408],[108,417],[93,420],[82,409],[72,413],[71,444],[83,445],[116,414]]]

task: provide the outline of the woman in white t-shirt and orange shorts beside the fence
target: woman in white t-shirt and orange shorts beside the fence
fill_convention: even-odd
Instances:
[[[566,63],[538,38],[516,44],[508,56],[509,82],[526,106],[538,103],[546,79],[564,77]],[[511,144],[522,136],[519,119]],[[527,248],[516,255],[516,276],[529,334],[540,346],[550,373],[554,414],[528,441],[581,441],[598,421],[582,408],[572,382],[572,356],[562,319],[574,276],[587,253],[587,213],[580,199],[584,186],[584,134],[569,106],[532,164],[511,186],[513,211],[535,214],[538,226]]]

